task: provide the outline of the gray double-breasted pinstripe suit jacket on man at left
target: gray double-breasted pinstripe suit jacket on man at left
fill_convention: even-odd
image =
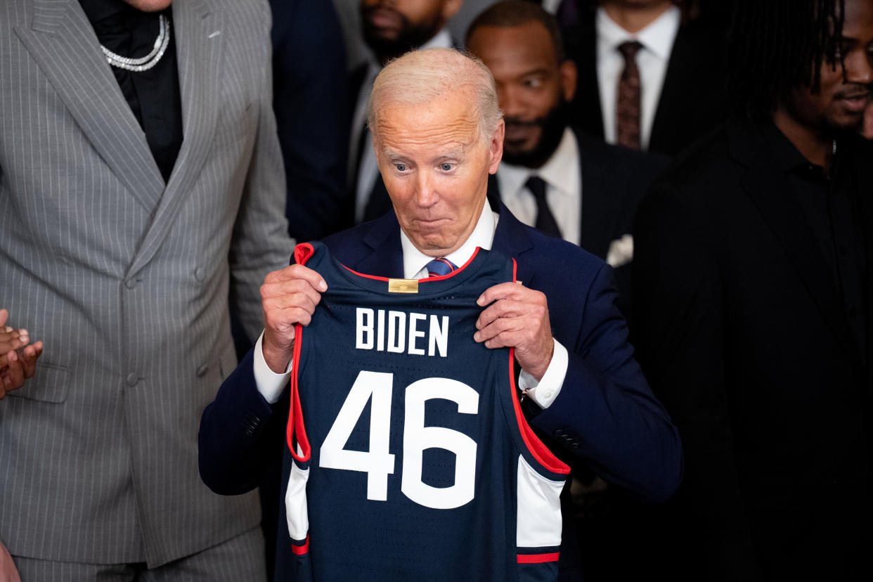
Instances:
[[[197,427],[287,264],[269,9],[176,0],[184,143],[168,183],[76,0],[0,3],[0,305],[45,341],[0,402],[14,555],[162,565],[258,524],[197,473]]]

